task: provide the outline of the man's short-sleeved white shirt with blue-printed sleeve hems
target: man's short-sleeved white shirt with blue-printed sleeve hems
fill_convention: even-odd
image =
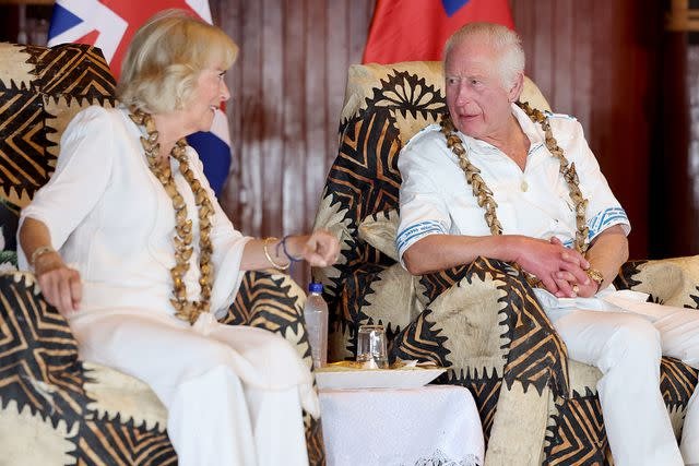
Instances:
[[[493,191],[503,235],[559,238],[570,247],[576,236],[576,214],[560,164],[546,148],[544,132],[517,105],[512,113],[530,140],[522,169],[497,147],[459,132],[473,165]],[[583,136],[580,123],[568,116],[548,115],[552,131],[567,159],[574,164],[580,190],[588,200],[585,218],[591,241],[614,225],[628,235],[630,224]],[[396,247],[402,258],[428,235],[490,235],[484,208],[478,206],[459,159],[447,147],[438,124],[417,133],[398,163],[403,182]]]

